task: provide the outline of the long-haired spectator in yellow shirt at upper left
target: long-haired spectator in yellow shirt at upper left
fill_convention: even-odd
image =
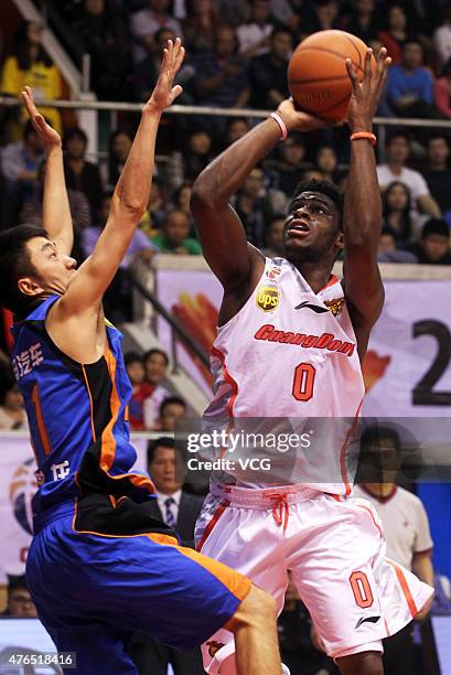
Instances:
[[[33,89],[36,98],[61,98],[62,79],[58,68],[42,46],[42,26],[34,21],[23,21],[15,35],[15,47],[4,62],[1,92],[19,97],[23,87]],[[40,107],[41,115],[61,135],[62,121],[55,108]],[[23,110],[22,120],[28,119]]]

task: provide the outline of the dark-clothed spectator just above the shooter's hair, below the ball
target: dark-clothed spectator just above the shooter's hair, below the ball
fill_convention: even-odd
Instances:
[[[302,175],[302,162],[305,156],[305,140],[302,136],[291,133],[278,148],[278,159],[268,160],[265,170],[272,188],[280,190],[291,199]],[[322,180],[322,174],[319,180]],[[283,211],[283,210],[281,210]]]

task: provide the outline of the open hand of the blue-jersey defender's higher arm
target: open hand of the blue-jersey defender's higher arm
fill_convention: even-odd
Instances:
[[[174,79],[179,73],[185,49],[182,46],[180,38],[175,42],[168,40],[168,46],[163,50],[160,75],[148,103],[142,113],[162,113],[172,105],[174,99],[183,92],[180,85],[174,86]]]

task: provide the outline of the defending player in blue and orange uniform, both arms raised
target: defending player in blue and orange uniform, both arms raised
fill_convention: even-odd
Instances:
[[[126,654],[136,629],[191,650],[221,626],[235,635],[241,675],[281,673],[269,596],[180,547],[149,515],[153,484],[131,469],[121,335],[101,308],[148,205],[157,131],[181,93],[173,81],[183,54],[180,40],[168,42],[108,222],[79,269],[69,257],[61,139],[26,88],[46,148],[44,229],[22,225],[0,234],[0,302],[15,315],[13,366],[39,467],[26,579],[42,622],[60,652],[76,652],[82,675],[136,673]]]

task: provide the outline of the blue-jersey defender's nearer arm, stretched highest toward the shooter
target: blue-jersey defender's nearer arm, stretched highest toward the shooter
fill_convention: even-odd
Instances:
[[[82,265],[58,302],[69,314],[98,310],[104,292],[110,285],[126,255],[150,197],[154,150],[160,118],[176,96],[180,85],[172,86],[182,65],[184,49],[180,39],[168,41],[160,76],[153,93],[142,109],[133,144],[111,200],[107,224],[90,257]]]

